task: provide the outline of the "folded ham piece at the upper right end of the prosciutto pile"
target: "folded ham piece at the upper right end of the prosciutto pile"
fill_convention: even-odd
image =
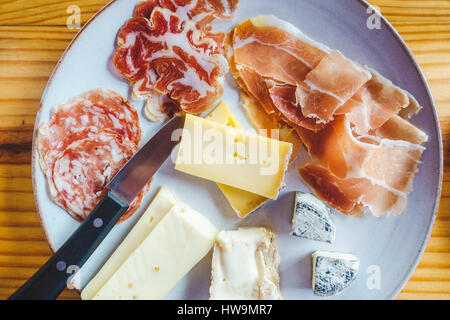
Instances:
[[[373,73],[368,81],[353,97],[359,106],[348,114],[358,134],[366,134],[381,127],[386,121],[409,106],[407,93],[393,85],[383,76]]]

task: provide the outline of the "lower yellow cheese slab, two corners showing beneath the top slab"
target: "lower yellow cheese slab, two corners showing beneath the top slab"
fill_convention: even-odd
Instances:
[[[221,102],[206,119],[235,128],[244,129],[239,120],[228,108],[225,102]],[[217,186],[227,198],[233,210],[239,218],[245,218],[247,215],[261,207],[269,199],[251,192],[233,188],[221,183]]]

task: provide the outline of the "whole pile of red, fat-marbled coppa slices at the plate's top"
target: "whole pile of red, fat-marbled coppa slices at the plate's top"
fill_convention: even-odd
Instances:
[[[236,0],[143,1],[120,29],[114,65],[133,95],[147,99],[146,115],[161,121],[174,114],[198,114],[223,94],[228,63],[225,35],[209,23],[231,19]]]

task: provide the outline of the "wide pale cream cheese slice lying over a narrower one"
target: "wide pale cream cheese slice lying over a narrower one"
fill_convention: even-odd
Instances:
[[[177,202],[94,300],[162,299],[212,248],[218,230]]]

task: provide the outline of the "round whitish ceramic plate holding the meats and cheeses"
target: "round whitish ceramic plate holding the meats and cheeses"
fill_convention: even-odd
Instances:
[[[115,71],[111,55],[116,34],[139,0],[116,0],[102,9],[69,46],[47,85],[36,119],[36,128],[49,119],[54,105],[84,91],[105,87],[130,97],[129,86]],[[301,158],[287,175],[287,187],[276,202],[270,202],[244,220],[236,218],[217,186],[209,181],[176,172],[167,161],[156,174],[150,193],[140,210],[128,221],[116,226],[81,270],[83,287],[108,258],[121,239],[137,221],[160,186],[167,184],[177,196],[203,213],[217,227],[265,226],[277,234],[281,255],[281,289],[286,299],[315,299],[311,290],[311,253],[316,250],[349,252],[361,259],[360,274],[338,299],[388,299],[395,297],[409,279],[424,250],[432,228],[440,194],[442,144],[439,124],[430,91],[411,52],[384,19],[381,29],[366,27],[370,14],[367,4],[357,0],[241,0],[236,20],[219,25],[228,30],[237,22],[260,14],[273,14],[293,23],[313,39],[346,56],[378,70],[400,87],[410,91],[424,109],[413,122],[429,135],[427,150],[414,181],[406,212],[398,217],[346,217],[336,213],[337,237],[333,245],[290,236],[293,191],[308,188],[297,168]],[[222,100],[228,102],[239,120],[250,125],[238,106],[238,91],[232,77],[225,85]],[[132,101],[139,110],[144,130],[143,142],[160,127],[147,121],[142,102]],[[36,131],[35,131],[36,137]],[[304,158],[305,154],[303,154]],[[38,214],[52,250],[57,250],[77,228],[62,209],[48,196],[45,177],[33,145],[33,185]],[[169,299],[207,299],[210,284],[211,254],[169,293]],[[379,276],[379,287],[371,282]],[[372,286],[367,284],[372,283]]]

